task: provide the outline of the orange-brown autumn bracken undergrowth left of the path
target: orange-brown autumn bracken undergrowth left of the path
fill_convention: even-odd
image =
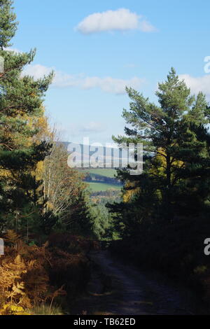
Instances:
[[[89,279],[88,242],[55,234],[42,246],[29,246],[13,230],[3,238],[0,314],[64,314],[69,300],[85,289]]]

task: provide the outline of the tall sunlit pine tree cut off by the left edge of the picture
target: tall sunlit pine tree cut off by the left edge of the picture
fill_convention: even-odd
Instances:
[[[0,57],[4,59],[4,72],[0,76],[0,209],[1,221],[6,214],[21,214],[27,204],[33,204],[32,171],[39,161],[50,153],[50,144],[35,142],[38,130],[33,123],[43,113],[43,97],[53,73],[34,80],[22,74],[36,53],[8,51],[10,39],[15,35],[17,23],[13,1],[1,0]]]

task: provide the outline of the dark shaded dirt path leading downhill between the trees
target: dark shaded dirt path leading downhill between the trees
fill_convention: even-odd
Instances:
[[[111,258],[108,251],[94,251],[87,293],[74,304],[71,314],[196,314],[197,303],[186,289],[165,279],[154,279]]]

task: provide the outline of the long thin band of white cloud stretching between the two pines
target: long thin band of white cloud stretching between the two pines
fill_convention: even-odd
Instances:
[[[34,76],[34,78],[42,78],[52,71],[53,68],[46,67],[40,64],[29,65],[23,71],[22,75]],[[111,78],[110,76],[105,78],[99,78],[98,76],[84,76],[83,74],[70,75],[55,71],[55,78],[53,80],[53,87],[79,87],[80,89],[88,90],[94,87],[98,87],[104,92],[111,92],[114,94],[125,94],[125,87],[133,87],[138,89],[144,80],[133,77],[130,79]]]

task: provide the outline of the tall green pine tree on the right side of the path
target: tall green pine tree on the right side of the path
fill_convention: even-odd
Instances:
[[[118,144],[144,144],[144,175],[148,174],[157,186],[165,217],[172,220],[179,184],[187,179],[190,167],[207,156],[206,141],[198,138],[195,127],[208,123],[208,104],[202,93],[190,96],[190,89],[173,68],[158,87],[160,106],[127,88],[132,102],[130,110],[123,111],[123,118],[130,127],[125,127],[127,137],[113,140]],[[193,175],[196,176],[195,171]],[[136,181],[135,187],[141,186],[142,176],[132,177],[127,171],[121,171],[119,176],[125,181]]]

